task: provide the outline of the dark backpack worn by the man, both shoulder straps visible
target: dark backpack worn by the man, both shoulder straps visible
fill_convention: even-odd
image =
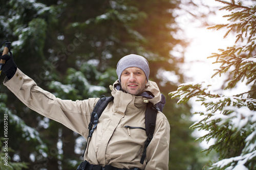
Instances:
[[[164,95],[163,94],[161,94],[161,95],[162,95],[162,99],[164,99],[164,103],[165,103]],[[89,129],[88,139],[89,139],[89,137],[92,136],[94,130],[96,129],[101,113],[106,108],[106,106],[109,104],[109,102],[111,102],[113,100],[114,100],[113,96],[105,97],[104,95],[102,95],[100,100],[95,105],[95,107],[92,111],[92,114],[91,114],[91,121],[88,126],[88,129]],[[162,109],[163,109],[163,106],[160,107],[160,109],[159,109],[157,106],[154,106],[151,102],[147,103],[146,112],[145,112],[145,127],[146,127],[147,139],[144,143],[144,150],[143,150],[143,153],[142,153],[142,156],[140,159],[141,164],[143,164],[145,157],[146,157],[146,148],[147,148],[148,144],[150,144],[150,142],[153,138],[153,134],[154,134],[155,127],[156,127],[157,112],[158,112],[158,110],[162,111]],[[88,141],[88,139],[87,139],[87,141]],[[87,148],[87,143],[86,143],[86,148]],[[85,152],[86,152],[86,149],[84,150],[82,157],[84,156]]]

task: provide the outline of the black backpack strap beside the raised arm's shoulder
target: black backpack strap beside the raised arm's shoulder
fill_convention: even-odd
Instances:
[[[100,100],[98,100],[98,102],[96,103],[96,105],[92,111],[92,114],[91,114],[91,121],[88,126],[89,135],[87,138],[87,143],[88,143],[89,137],[91,137],[93,135],[93,132],[98,125],[98,120],[99,120],[99,117],[101,116],[101,113],[104,111],[106,106],[108,106],[109,102],[113,101],[113,99],[114,99],[113,96],[105,97],[104,95],[101,95]],[[86,148],[87,148],[87,143],[86,143]],[[86,148],[84,149],[82,157],[84,156],[84,153],[86,152]]]

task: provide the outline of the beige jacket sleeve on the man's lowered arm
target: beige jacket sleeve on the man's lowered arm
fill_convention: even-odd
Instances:
[[[170,126],[161,112],[157,114],[156,128],[153,139],[147,147],[145,170],[167,170],[169,161]]]

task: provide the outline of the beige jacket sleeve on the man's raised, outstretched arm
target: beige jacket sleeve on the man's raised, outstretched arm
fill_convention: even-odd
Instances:
[[[97,99],[61,100],[38,87],[31,78],[19,69],[10,80],[5,79],[4,85],[30,109],[87,137],[91,111]]]

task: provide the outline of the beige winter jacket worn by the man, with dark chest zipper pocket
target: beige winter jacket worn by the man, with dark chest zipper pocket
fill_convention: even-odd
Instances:
[[[115,82],[114,84],[117,84]],[[69,129],[88,137],[91,112],[98,98],[83,101],[61,100],[52,93],[38,87],[36,83],[17,69],[14,77],[5,80],[6,85],[30,109],[56,120]],[[154,95],[153,104],[161,100],[155,82],[146,84],[146,91]],[[114,101],[103,111],[99,123],[89,140],[84,156],[91,164],[112,165],[119,168],[168,169],[169,123],[161,112],[157,114],[154,137],[147,147],[144,164],[140,163],[147,135],[145,128],[146,104],[142,96],[125,93],[114,88]]]

